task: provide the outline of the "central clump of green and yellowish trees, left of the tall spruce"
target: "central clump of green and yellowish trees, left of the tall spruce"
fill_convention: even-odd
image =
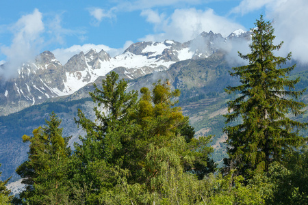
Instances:
[[[103,89],[96,86],[90,94],[99,105],[94,107],[96,122],[79,111],[76,122],[87,135],[76,146],[71,182],[86,189],[84,202],[201,202],[196,192],[203,189],[200,180],[216,167],[209,159],[211,137],[194,139],[188,118],[174,107],[179,90],[171,91],[168,81],[154,83],[151,92],[143,87],[138,101],[137,93],[126,93],[126,87],[112,72]]]

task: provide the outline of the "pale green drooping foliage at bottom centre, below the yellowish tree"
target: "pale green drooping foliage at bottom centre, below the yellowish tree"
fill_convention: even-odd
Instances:
[[[144,175],[151,173],[145,183],[129,183],[131,172],[125,169],[117,174],[117,185],[101,195],[107,204],[203,204],[207,194],[206,181],[194,174],[183,172],[179,147],[185,139],[178,137],[171,148],[151,146],[144,160]],[[184,148],[183,148],[184,149]],[[192,158],[186,156],[186,160]]]

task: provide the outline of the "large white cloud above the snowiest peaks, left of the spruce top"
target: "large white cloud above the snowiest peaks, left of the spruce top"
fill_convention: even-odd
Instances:
[[[149,23],[153,23],[155,28],[160,28],[161,31],[147,35],[140,40],[163,41],[169,39],[185,42],[196,38],[203,31],[213,31],[221,33],[222,36],[228,36],[236,29],[244,29],[242,25],[216,15],[211,9],[205,11],[195,8],[177,9],[169,17],[153,10],[146,10],[146,12],[142,12],[142,16],[145,16]]]

